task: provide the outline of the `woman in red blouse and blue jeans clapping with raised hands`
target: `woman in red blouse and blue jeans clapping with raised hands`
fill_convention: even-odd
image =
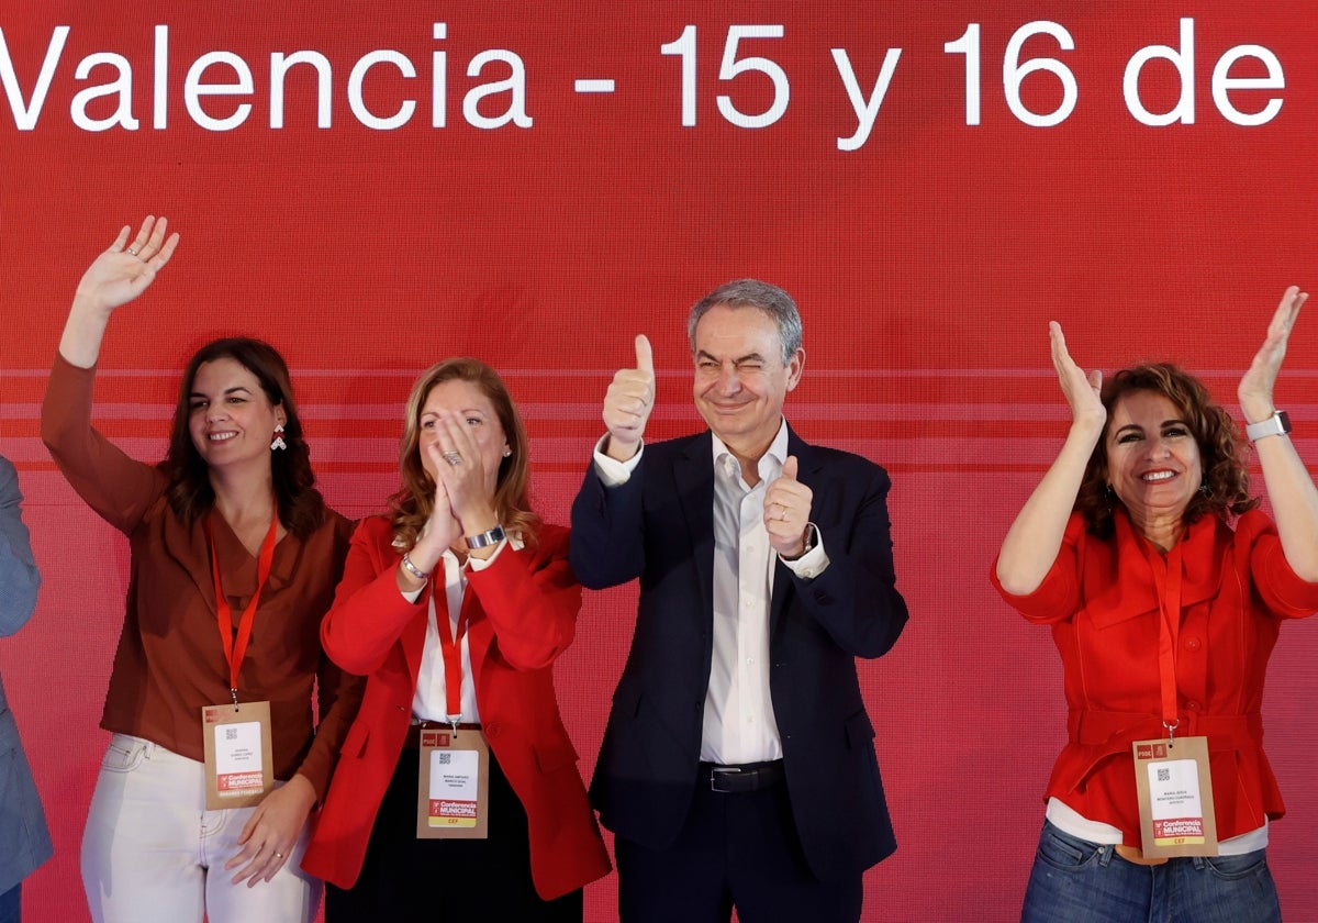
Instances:
[[[1238,388],[1276,522],[1201,382],[1086,376],[1050,324],[1072,426],[992,572],[1052,628],[1069,709],[1024,920],[1280,919],[1260,707],[1281,620],[1318,610],[1318,489],[1272,394],[1306,298],[1286,290]]]

